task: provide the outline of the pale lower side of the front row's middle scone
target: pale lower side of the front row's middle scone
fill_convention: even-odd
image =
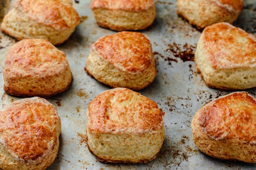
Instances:
[[[154,160],[164,141],[164,126],[141,135],[90,134],[87,145],[99,161],[110,163],[148,163]]]

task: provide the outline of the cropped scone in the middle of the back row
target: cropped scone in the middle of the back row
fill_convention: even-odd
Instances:
[[[154,0],[92,0],[99,26],[116,31],[143,30],[155,20]]]

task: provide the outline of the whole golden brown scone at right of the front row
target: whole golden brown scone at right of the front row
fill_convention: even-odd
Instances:
[[[191,128],[198,149],[211,157],[256,163],[256,99],[247,92],[203,106]]]

